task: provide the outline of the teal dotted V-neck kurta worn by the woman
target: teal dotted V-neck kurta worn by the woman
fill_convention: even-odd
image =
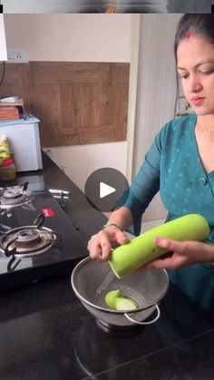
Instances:
[[[156,135],[123,204],[131,210],[136,234],[140,233],[141,215],[160,190],[162,203],[169,211],[166,220],[198,213],[208,220],[209,240],[214,243],[214,171],[207,174],[200,160],[196,121],[197,115],[192,113],[168,122]],[[214,311],[212,266],[197,264],[170,270],[169,274],[192,300]]]

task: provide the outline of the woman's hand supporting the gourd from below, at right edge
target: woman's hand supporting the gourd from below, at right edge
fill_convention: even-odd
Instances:
[[[191,264],[214,261],[214,248],[199,241],[176,241],[171,239],[156,238],[155,245],[168,248],[170,258],[159,258],[144,265],[141,269],[166,268],[178,269]],[[169,255],[168,255],[169,256]]]

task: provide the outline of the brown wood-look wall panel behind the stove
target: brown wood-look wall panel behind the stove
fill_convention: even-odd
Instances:
[[[23,97],[41,121],[43,147],[124,141],[129,69],[129,63],[10,63],[0,97]]]

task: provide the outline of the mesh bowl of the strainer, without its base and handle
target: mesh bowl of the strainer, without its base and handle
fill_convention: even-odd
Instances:
[[[125,278],[116,278],[108,262],[98,263],[84,258],[73,269],[72,286],[84,306],[93,309],[93,315],[94,308],[105,313],[124,314],[124,311],[107,307],[104,301],[105,295],[116,289],[121,289],[125,297],[135,300],[138,309],[131,311],[131,314],[140,314],[142,310],[154,307],[160,302],[168,290],[169,278],[164,269],[136,271]]]

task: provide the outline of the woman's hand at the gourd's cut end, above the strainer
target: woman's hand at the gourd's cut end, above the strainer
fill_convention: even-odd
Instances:
[[[130,239],[120,229],[108,227],[102,229],[88,242],[89,255],[97,261],[106,261],[112,253],[112,246],[118,243],[119,245],[127,244]]]

